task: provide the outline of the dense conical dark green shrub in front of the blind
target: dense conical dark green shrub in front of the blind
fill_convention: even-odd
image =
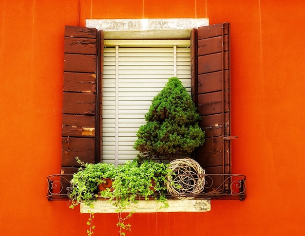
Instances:
[[[172,77],[152,100],[147,123],[137,131],[134,149],[144,159],[169,161],[203,145],[205,132],[198,126],[200,115],[181,81]]]

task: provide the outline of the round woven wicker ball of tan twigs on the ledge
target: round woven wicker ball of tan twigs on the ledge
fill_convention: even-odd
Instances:
[[[188,157],[176,159],[170,162],[169,168],[175,173],[172,179],[168,177],[169,194],[180,200],[188,200],[203,191],[205,170],[195,160]]]

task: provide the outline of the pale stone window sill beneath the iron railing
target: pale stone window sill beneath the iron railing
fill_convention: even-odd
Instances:
[[[134,211],[136,213],[153,212],[208,212],[211,210],[210,200],[168,200],[169,207],[160,208],[164,204],[155,200],[139,200],[131,204],[123,212]],[[116,213],[114,205],[107,200],[98,200],[93,203],[94,207],[80,204],[80,213]]]

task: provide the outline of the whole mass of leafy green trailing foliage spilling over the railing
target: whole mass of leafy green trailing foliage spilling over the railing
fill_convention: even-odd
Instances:
[[[164,207],[168,207],[166,193],[167,176],[172,176],[173,172],[168,168],[168,164],[156,163],[152,161],[144,161],[138,163],[126,162],[123,165],[114,167],[113,164],[107,163],[82,163],[77,158],[78,163],[83,167],[74,174],[71,180],[72,193],[70,199],[74,208],[80,202],[93,207],[93,201],[97,198],[108,199],[114,206],[118,216],[117,227],[119,227],[119,235],[125,236],[125,232],[130,231],[131,225],[125,223],[134,212],[130,212],[127,216],[122,215],[123,211],[131,203],[137,203],[138,200],[154,199],[164,203]],[[97,185],[102,183],[104,179],[112,179],[112,188],[97,193]],[[88,235],[93,234],[92,218],[90,217],[87,224],[90,229]]]

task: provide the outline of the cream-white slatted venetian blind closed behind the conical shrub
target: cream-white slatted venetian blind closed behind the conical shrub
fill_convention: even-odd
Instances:
[[[191,92],[190,49],[158,40],[160,47],[106,47],[103,66],[102,160],[121,164],[138,154],[136,131],[152,99],[170,77]],[[162,41],[165,43],[162,44]],[[184,40],[181,40],[184,41]]]

